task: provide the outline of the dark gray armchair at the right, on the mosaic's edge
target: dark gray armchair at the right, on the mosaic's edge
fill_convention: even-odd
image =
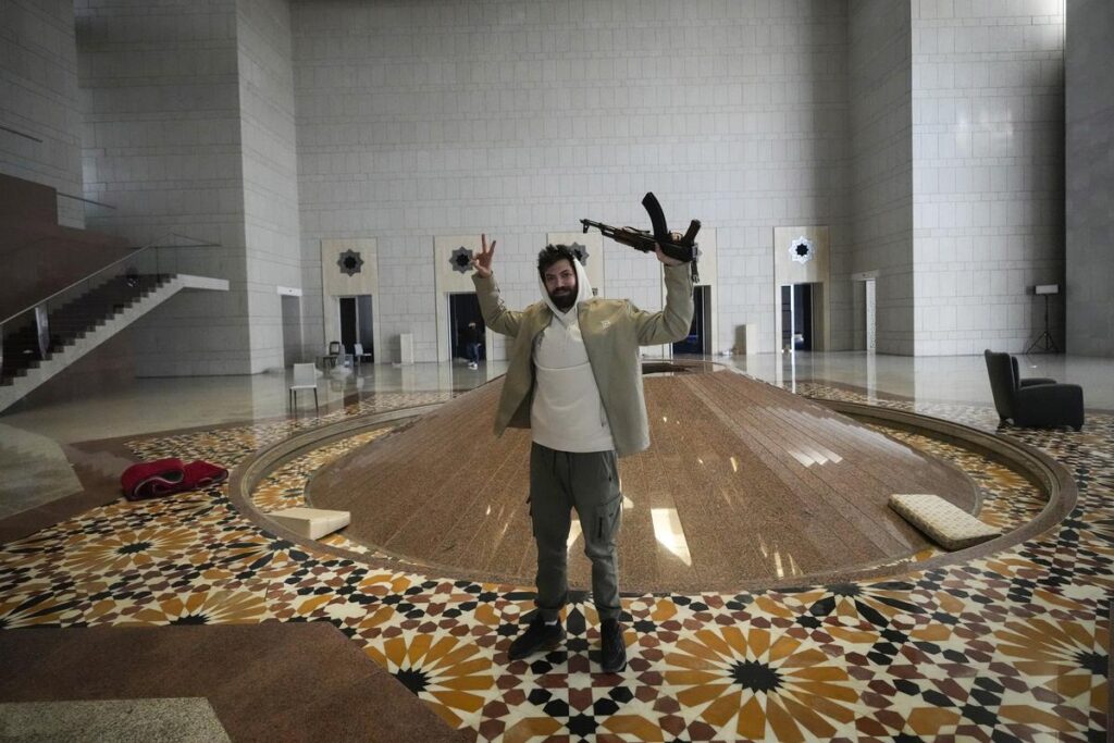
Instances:
[[[1017,359],[1008,353],[984,351],[990,375],[994,407],[1001,422],[1022,428],[1083,428],[1083,388],[1057,384],[1054,379],[1022,379]]]

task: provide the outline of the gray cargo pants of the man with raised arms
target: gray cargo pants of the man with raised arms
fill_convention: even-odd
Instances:
[[[537,605],[556,619],[568,598],[567,557],[571,510],[580,517],[584,554],[592,560],[592,595],[600,620],[619,617],[615,538],[623,517],[614,451],[587,453],[530,446],[530,519],[538,545]]]

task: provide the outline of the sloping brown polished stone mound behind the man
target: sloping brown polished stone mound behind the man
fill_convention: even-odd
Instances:
[[[529,432],[496,439],[501,380],[323,468],[315,507],[352,512],[350,539],[446,570],[529,585]],[[935,492],[967,511],[975,485],[954,466],[790,392],[731,372],[645,379],[649,450],[620,462],[624,590],[730,590],[838,573],[929,544],[887,506]],[[657,512],[655,526],[654,514]],[[662,522],[680,522],[683,550]],[[570,549],[569,578],[590,584]]]

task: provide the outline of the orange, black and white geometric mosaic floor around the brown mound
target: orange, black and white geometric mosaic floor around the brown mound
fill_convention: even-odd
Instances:
[[[423,401],[433,400],[369,399],[326,418]],[[871,402],[997,426],[981,408]],[[316,422],[131,449],[235,466]],[[224,486],[115,502],[3,545],[0,628],[328,620],[480,740],[1106,740],[1114,419],[1092,414],[1081,433],[1005,432],[1075,475],[1077,507],[1054,529],[897,578],[627,599],[629,665],[618,675],[590,673],[599,642],[590,604],[569,607],[563,649],[509,662],[510,637],[532,608],[528,588],[375,569],[277,539],[238,514]],[[359,443],[314,452],[316,463]],[[312,466],[275,472],[256,502],[296,499],[282,478]],[[987,520],[1009,525],[1038,507],[1016,497],[1024,488],[1008,473],[981,477],[995,496]]]

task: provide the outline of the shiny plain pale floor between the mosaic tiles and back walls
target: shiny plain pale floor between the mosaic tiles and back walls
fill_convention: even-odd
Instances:
[[[1051,377],[1081,384],[1088,409],[1114,410],[1114,360],[1056,354],[1019,356],[1022,377]],[[754,354],[713,358],[789,390],[799,382],[822,381],[861,389],[868,398],[897,395],[920,402],[991,404],[981,356],[889,356],[861,352]],[[355,371],[331,370],[321,385],[322,404],[339,405],[368,393],[470,390],[506,370],[505,362],[399,366],[364,364]],[[116,438],[154,431],[264,420],[287,414],[286,375],[141,379],[118,390],[30,410],[19,407],[0,423],[41,433],[58,442]],[[304,412],[306,407],[302,405]]]

